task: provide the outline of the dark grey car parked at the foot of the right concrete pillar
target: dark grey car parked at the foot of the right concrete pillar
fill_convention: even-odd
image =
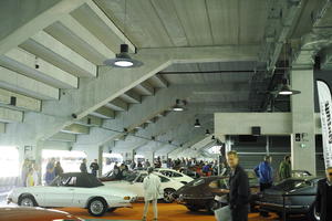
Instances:
[[[305,214],[308,220],[318,221],[314,200],[320,177],[286,179],[261,192],[257,201],[260,210],[284,214]],[[299,196],[300,194],[300,196]],[[301,196],[302,194],[302,196]],[[283,197],[284,196],[284,211]]]

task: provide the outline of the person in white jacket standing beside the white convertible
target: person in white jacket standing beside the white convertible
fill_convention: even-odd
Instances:
[[[154,221],[158,220],[158,208],[157,208],[157,200],[160,194],[160,178],[153,173],[154,168],[149,167],[147,169],[147,176],[143,180],[143,188],[144,188],[144,213],[143,213],[143,221],[146,221],[146,215],[148,212],[148,206],[152,202],[154,208]]]

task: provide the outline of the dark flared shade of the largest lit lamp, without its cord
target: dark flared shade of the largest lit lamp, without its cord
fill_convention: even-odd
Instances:
[[[104,64],[113,67],[138,67],[143,65],[143,62],[132,59],[128,54],[128,45],[121,44],[116,57],[104,61]]]

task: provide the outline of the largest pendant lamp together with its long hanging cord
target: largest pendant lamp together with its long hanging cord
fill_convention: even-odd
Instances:
[[[128,44],[126,44],[126,36],[125,36],[126,18],[127,18],[127,1],[125,0],[124,30],[123,30],[124,43],[120,45],[120,53],[117,53],[114,59],[108,59],[104,61],[104,64],[107,66],[124,69],[124,67],[138,67],[143,65],[143,62],[132,59],[128,53]]]

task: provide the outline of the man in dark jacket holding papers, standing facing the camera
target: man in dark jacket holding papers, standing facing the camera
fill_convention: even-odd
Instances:
[[[229,190],[220,192],[229,194],[229,208],[232,221],[248,221],[249,211],[249,179],[247,172],[239,165],[237,151],[227,152],[227,162],[230,167]]]

